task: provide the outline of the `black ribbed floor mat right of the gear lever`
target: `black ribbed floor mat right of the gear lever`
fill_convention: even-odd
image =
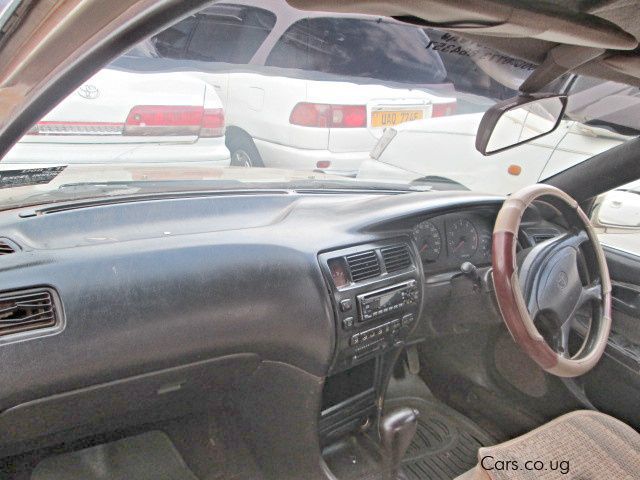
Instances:
[[[420,410],[418,431],[403,460],[409,480],[455,478],[476,465],[478,448],[495,443],[469,419],[441,403],[405,398],[385,407],[400,406]]]

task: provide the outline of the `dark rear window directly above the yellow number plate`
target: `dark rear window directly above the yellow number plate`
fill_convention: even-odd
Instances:
[[[289,27],[267,58],[273,67],[437,84],[447,72],[416,27],[358,18],[307,18]]]

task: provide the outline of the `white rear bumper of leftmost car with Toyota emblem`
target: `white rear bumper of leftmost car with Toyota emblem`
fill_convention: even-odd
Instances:
[[[7,164],[113,164],[198,162],[225,167],[231,163],[224,137],[192,143],[29,143],[16,144],[2,159]]]

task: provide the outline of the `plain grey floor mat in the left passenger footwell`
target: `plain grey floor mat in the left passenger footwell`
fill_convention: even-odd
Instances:
[[[152,431],[46,458],[31,480],[197,480],[164,433]]]

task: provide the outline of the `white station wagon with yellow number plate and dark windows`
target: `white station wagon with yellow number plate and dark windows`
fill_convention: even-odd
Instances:
[[[385,127],[454,112],[452,85],[428,43],[422,28],[390,18],[230,0],[114,65],[180,69],[213,85],[232,165],[355,174]]]

